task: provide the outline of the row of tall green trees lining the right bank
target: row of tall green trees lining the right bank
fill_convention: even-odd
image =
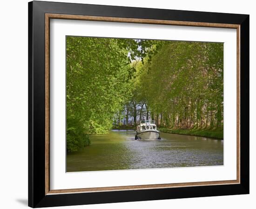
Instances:
[[[158,124],[223,125],[222,43],[162,41],[140,72],[141,97]]]

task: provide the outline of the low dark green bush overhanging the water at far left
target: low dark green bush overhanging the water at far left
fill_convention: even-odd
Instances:
[[[77,151],[90,143],[89,136],[84,132],[81,121],[76,118],[67,118],[67,152]]]

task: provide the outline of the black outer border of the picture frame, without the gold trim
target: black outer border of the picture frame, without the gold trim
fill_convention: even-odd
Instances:
[[[45,195],[45,13],[238,24],[240,28],[240,184]],[[28,206],[33,208],[249,194],[249,15],[28,3]]]

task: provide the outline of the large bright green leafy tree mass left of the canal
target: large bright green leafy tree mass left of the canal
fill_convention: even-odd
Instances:
[[[131,95],[134,69],[128,58],[130,49],[120,41],[66,38],[67,118],[79,120],[86,134],[107,133],[112,127],[113,115]],[[67,124],[67,130],[74,131],[72,127]],[[69,137],[67,145],[73,140]]]

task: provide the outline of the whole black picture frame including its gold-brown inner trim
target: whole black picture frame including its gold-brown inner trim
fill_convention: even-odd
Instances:
[[[236,180],[52,190],[49,140],[51,19],[236,29]],[[28,206],[30,207],[249,194],[249,15],[29,2],[28,96]]]

